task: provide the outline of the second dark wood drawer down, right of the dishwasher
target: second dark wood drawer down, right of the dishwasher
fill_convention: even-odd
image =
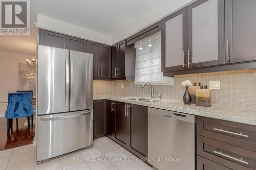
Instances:
[[[197,135],[197,155],[231,169],[255,169],[256,152]]]

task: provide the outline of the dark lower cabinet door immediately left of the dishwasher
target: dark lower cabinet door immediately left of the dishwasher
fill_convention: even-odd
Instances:
[[[129,150],[140,157],[147,157],[147,107],[129,105]]]

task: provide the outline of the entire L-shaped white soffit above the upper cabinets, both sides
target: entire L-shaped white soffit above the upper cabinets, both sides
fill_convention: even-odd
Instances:
[[[196,0],[165,0],[150,11],[137,17],[132,23],[129,23],[129,25],[125,26],[123,29],[119,30],[111,36],[93,30],[85,29],[79,26],[75,26],[71,23],[63,22],[41,14],[37,14],[37,27],[108,45],[113,45],[116,42],[130,37],[131,35],[161,20],[165,16],[180,9],[184,5],[195,1]],[[130,12],[132,12],[132,10],[130,10]]]

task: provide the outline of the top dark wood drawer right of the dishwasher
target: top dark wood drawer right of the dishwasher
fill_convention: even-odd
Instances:
[[[197,134],[256,151],[256,126],[197,116]]]

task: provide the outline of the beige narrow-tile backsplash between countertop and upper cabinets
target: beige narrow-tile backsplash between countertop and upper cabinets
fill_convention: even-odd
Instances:
[[[181,82],[185,80],[201,82],[208,87],[209,81],[219,80],[221,89],[212,90],[212,104],[256,108],[256,77],[253,69],[175,76],[174,85],[155,85],[154,91],[161,94],[162,99],[182,101],[185,88]],[[151,87],[141,88],[135,86],[133,81],[94,81],[94,94],[150,97]]]

